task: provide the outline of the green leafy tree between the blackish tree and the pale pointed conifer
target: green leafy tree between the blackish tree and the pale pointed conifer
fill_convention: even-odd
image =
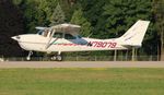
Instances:
[[[26,33],[36,33],[36,26],[48,26],[56,4],[56,0],[22,0],[20,8]]]

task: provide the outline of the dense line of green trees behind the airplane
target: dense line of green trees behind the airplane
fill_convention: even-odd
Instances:
[[[7,35],[36,33],[36,26],[72,23],[82,26],[80,32],[82,36],[90,35],[90,37],[105,39],[121,36],[138,20],[151,21],[142,48],[77,52],[67,54],[67,56],[98,55],[109,56],[114,60],[121,60],[125,57],[130,60],[143,60],[145,58],[148,60],[164,60],[164,0],[2,0],[1,2],[7,3],[7,5],[5,8],[2,7],[3,4],[0,5],[0,17],[3,16],[3,13],[8,15],[3,17],[7,20],[10,17],[9,22],[17,22],[17,27],[14,28],[17,33],[14,33],[13,28],[7,32],[0,29],[0,34]],[[9,13],[4,12],[3,9],[8,9]],[[4,26],[1,25],[1,28]],[[3,56],[4,45],[1,45],[0,49],[0,55]],[[25,54],[24,51],[21,52],[22,55]]]

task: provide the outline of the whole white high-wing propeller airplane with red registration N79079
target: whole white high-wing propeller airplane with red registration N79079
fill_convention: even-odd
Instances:
[[[54,54],[52,60],[61,61],[61,52],[94,51],[94,50],[125,50],[131,47],[139,48],[148,29],[150,21],[137,21],[122,36],[110,39],[97,39],[81,37],[81,26],[74,24],[58,24],[50,27],[36,27],[37,34],[23,34],[11,37],[21,48],[30,51],[27,60],[31,60],[33,51]]]

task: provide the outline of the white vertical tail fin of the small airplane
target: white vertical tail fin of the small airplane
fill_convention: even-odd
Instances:
[[[149,24],[150,21],[139,20],[121,37],[118,38],[119,41],[121,41],[121,45],[141,47]]]

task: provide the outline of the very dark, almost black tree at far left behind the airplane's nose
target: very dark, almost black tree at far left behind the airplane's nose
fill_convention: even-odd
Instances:
[[[22,57],[23,50],[12,36],[23,34],[21,11],[11,0],[0,1],[0,57]]]

